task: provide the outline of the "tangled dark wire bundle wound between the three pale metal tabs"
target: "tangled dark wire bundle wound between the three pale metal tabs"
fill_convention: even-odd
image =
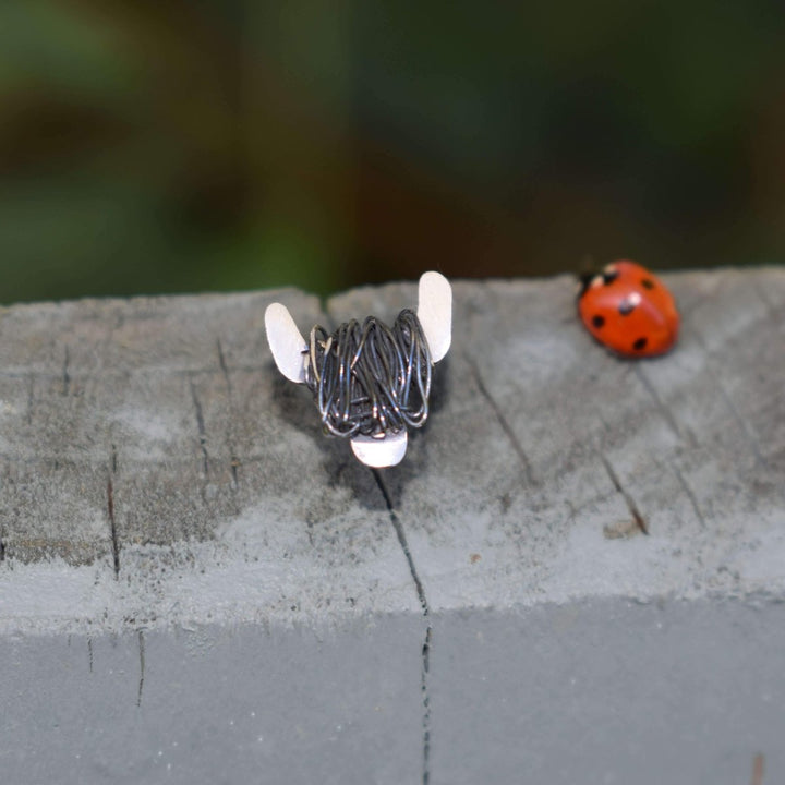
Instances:
[[[406,309],[392,327],[369,316],[328,335],[311,330],[305,384],[334,436],[375,436],[422,427],[428,415],[431,352],[416,314]]]

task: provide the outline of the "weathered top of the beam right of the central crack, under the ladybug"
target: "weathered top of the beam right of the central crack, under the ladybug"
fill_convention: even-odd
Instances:
[[[456,286],[440,400],[385,475],[432,608],[780,595],[785,270],[665,279],[683,338],[644,362],[587,337],[568,278]],[[410,297],[361,290],[331,312]]]

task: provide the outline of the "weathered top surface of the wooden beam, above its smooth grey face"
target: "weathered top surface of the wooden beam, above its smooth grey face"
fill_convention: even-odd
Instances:
[[[3,309],[3,628],[781,594],[785,270],[665,279],[680,343],[637,363],[566,277],[456,282],[428,425],[378,475],[276,372],[264,309],[391,317],[413,285]]]

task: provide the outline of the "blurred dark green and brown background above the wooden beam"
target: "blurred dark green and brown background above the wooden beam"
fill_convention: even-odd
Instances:
[[[780,0],[0,3],[0,301],[785,259]]]

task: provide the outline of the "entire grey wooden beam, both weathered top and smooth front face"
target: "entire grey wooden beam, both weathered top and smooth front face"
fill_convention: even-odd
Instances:
[[[0,311],[3,781],[780,782],[785,269],[665,280],[643,362],[567,277],[455,282],[378,472],[264,310],[414,285]]]

